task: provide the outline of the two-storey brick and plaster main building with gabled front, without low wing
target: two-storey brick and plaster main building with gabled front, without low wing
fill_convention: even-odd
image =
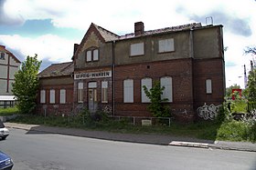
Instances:
[[[199,106],[223,102],[222,37],[222,25],[144,31],[144,23],[138,22],[133,34],[119,36],[91,24],[74,46],[73,108],[152,116],[143,85],[150,88],[157,80],[165,86],[162,97],[176,119],[193,121]]]

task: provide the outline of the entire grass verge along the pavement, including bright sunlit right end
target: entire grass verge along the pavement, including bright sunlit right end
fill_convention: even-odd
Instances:
[[[159,134],[186,136],[206,140],[222,141],[249,141],[256,142],[256,125],[249,126],[241,121],[229,121],[224,123],[217,122],[198,122],[193,124],[177,124],[141,126],[131,125],[127,121],[105,120],[100,122],[91,119],[83,119],[81,116],[61,117],[61,116],[39,116],[22,115],[12,122],[22,124],[50,125],[60,127],[72,127],[86,130],[98,130],[114,133],[129,134]]]

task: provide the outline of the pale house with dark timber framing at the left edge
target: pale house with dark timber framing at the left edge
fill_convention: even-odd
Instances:
[[[19,69],[20,61],[0,45],[0,108],[15,105],[12,83]]]

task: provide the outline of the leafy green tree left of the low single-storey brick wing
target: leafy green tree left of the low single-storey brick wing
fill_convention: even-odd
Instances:
[[[22,114],[31,114],[36,108],[38,89],[38,71],[41,61],[37,61],[37,55],[27,56],[27,60],[21,64],[21,68],[15,74],[13,93],[16,96],[17,107]]]

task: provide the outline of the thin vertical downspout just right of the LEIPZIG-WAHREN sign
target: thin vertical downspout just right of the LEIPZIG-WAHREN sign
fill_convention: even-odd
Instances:
[[[112,116],[115,115],[115,40],[112,41]]]

